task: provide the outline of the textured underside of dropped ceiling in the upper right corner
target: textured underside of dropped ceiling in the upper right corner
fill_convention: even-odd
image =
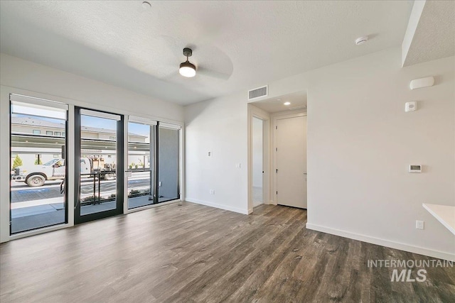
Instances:
[[[403,66],[455,55],[455,1],[426,1]]]

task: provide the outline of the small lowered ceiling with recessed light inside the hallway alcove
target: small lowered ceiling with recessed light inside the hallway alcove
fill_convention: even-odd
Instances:
[[[284,105],[284,102],[290,102],[291,104]],[[251,104],[271,114],[279,111],[291,111],[294,109],[306,110],[306,91],[294,92],[281,97],[255,101]]]

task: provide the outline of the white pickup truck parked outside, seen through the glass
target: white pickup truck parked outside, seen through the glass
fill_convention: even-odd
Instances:
[[[89,158],[80,159],[80,172],[90,173],[92,162]],[[41,165],[22,165],[14,170],[13,180],[23,181],[31,187],[43,186],[45,180],[65,179],[65,159],[53,159]]]

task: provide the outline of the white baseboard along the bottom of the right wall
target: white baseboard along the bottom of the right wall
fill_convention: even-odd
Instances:
[[[380,246],[386,246],[386,247],[395,248],[395,249],[399,249],[399,250],[405,250],[410,253],[418,253],[420,255],[427,255],[427,256],[433,257],[433,258],[455,261],[455,254],[446,253],[444,251],[432,250],[429,248],[412,246],[412,245],[405,244],[405,243],[388,241],[388,240],[384,240],[381,238],[360,235],[359,233],[351,233],[349,231],[341,231],[336,228],[330,228],[330,227],[320,226],[320,225],[316,225],[316,224],[307,223],[306,228],[311,229],[313,231],[322,231],[323,233],[331,233],[332,235],[341,236],[344,238],[350,238],[350,239],[363,241],[363,242],[367,242],[367,243],[372,243],[372,244],[376,244],[376,245],[380,245]]]

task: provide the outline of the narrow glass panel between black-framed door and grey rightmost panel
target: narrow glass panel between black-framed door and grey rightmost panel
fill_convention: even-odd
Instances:
[[[128,123],[128,209],[154,204],[155,126]]]

